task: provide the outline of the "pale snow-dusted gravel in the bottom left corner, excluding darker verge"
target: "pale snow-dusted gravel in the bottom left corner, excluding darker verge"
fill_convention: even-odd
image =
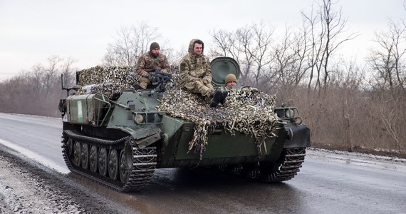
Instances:
[[[52,186],[51,176],[42,178],[21,168],[17,159],[0,156],[0,213],[85,213],[67,193]],[[22,163],[24,165],[24,163]],[[27,167],[30,167],[27,165]]]

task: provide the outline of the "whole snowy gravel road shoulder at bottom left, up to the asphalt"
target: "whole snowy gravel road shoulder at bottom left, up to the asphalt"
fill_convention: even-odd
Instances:
[[[134,213],[66,175],[0,150],[0,213]]]

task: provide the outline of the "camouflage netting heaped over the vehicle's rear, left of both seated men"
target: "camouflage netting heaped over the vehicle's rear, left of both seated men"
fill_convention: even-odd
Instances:
[[[90,93],[103,93],[110,99],[125,88],[138,83],[140,76],[131,67],[95,66],[79,71],[80,86],[90,86]],[[84,88],[78,90],[79,94],[88,93]]]

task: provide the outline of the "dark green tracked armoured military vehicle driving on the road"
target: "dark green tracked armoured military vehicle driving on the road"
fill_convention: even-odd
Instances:
[[[212,61],[214,86],[221,87],[228,73],[238,78],[239,72],[239,65],[232,58]],[[253,95],[259,94],[255,88],[229,89],[229,100],[224,106],[209,108],[203,102],[192,109],[198,112],[189,120],[187,112],[180,107],[167,109],[183,101],[193,105],[199,98],[177,100],[185,94],[193,95],[182,89],[176,93],[170,89],[171,92],[170,78],[157,77],[153,81],[157,87],[153,88],[126,85],[123,90],[105,93],[83,89],[83,75],[84,71],[76,74],[78,86],[65,88],[62,83],[67,91],[59,104],[63,118],[63,158],[73,173],[119,192],[141,190],[157,168],[199,166],[267,183],[290,180],[301,168],[306,147],[310,146],[310,131],[298,116],[297,108],[284,104],[272,106],[264,98],[258,105],[250,103],[244,111],[241,106],[232,107],[233,102],[241,100],[233,99],[235,96],[249,94],[249,100],[254,100]],[[105,78],[117,78],[117,72]],[[172,96],[166,97],[170,93]],[[204,118],[231,108],[241,111],[234,113],[229,121]],[[264,108],[271,109],[272,119],[259,115]],[[207,114],[201,109],[207,109],[204,110]],[[244,119],[244,113],[250,114],[254,121]]]

